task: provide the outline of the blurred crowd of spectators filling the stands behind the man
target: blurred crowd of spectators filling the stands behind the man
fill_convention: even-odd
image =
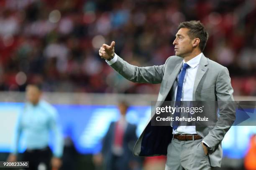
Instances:
[[[97,49],[115,40],[124,60],[161,65],[174,55],[177,25],[201,20],[210,33],[205,55],[228,67],[234,94],[256,95],[255,0],[106,2],[1,0],[0,90],[43,83],[45,91],[156,93],[158,85],[128,82],[102,65]]]

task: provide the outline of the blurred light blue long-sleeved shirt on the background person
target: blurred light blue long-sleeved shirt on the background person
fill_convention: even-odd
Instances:
[[[27,102],[18,116],[13,154],[18,153],[21,133],[28,150],[43,149],[49,145],[49,132],[54,134],[54,157],[63,153],[63,139],[57,125],[57,111],[48,102],[40,100],[37,105]]]

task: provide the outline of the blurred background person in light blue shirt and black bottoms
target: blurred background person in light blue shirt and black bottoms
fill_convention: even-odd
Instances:
[[[63,139],[57,125],[57,111],[48,102],[41,100],[41,86],[26,87],[27,102],[21,111],[16,125],[14,150],[9,162],[17,161],[21,134],[24,134],[26,151],[23,161],[29,161],[30,170],[58,170],[61,167]],[[54,134],[53,156],[49,148],[49,133]]]

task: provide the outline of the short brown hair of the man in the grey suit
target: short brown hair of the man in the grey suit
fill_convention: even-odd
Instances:
[[[196,21],[196,20],[185,21],[179,24],[178,30],[181,28],[188,28],[189,29],[188,35],[190,39],[199,38],[200,50],[203,51],[205,49],[205,45],[209,35],[207,30],[205,29],[205,26],[200,21]]]

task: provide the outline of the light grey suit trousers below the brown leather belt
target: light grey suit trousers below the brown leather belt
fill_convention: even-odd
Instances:
[[[179,141],[173,138],[167,148],[165,170],[212,170],[201,142],[202,139]]]

